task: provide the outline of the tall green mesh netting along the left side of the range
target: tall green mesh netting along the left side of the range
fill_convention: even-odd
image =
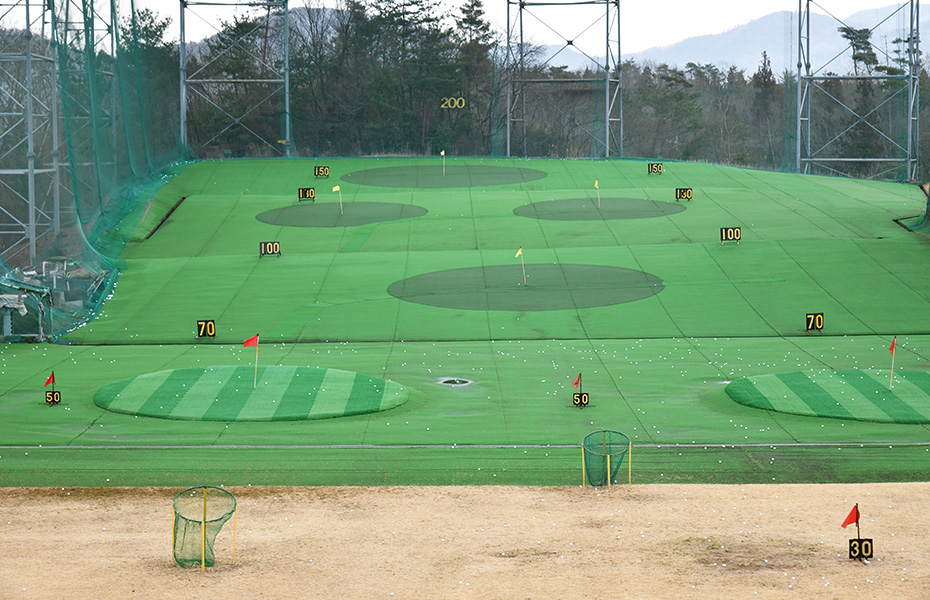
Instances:
[[[42,14],[28,45],[3,48],[38,57],[22,67],[33,139],[0,144],[11,166],[34,154],[0,185],[0,295],[20,305],[6,340],[56,339],[99,312],[128,232],[181,156],[177,48],[150,13],[129,1],[49,3]]]

